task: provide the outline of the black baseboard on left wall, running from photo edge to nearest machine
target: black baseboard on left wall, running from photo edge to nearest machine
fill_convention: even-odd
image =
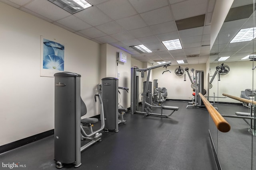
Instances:
[[[0,154],[54,134],[54,129],[0,146]]]

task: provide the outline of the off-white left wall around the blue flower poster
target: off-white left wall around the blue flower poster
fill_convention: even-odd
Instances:
[[[88,114],[99,83],[100,45],[0,3],[0,146],[54,129],[54,77],[40,76],[40,35],[65,45],[65,71],[81,74]]]

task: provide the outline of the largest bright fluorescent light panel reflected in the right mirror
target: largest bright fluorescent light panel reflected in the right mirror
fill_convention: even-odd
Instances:
[[[256,27],[241,29],[236,36],[230,41],[230,43],[251,41],[255,38]]]

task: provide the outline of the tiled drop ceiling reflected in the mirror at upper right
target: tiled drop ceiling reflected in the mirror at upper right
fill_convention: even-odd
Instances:
[[[230,43],[230,41],[240,29],[255,27],[255,9],[252,0],[234,0],[226,20],[220,29],[219,36],[210,51],[210,63],[217,63],[219,57],[227,56],[230,57],[225,62],[250,60],[241,59],[255,54],[255,40],[238,43]]]

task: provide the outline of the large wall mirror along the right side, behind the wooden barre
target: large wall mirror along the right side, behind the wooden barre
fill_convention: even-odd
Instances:
[[[222,170],[256,170],[256,107],[222,95],[254,101],[255,9],[255,0],[234,0],[210,51],[209,100],[214,102],[220,114],[226,115],[225,119],[231,125],[228,133],[222,133],[217,131],[212,120],[209,121],[210,135]]]

